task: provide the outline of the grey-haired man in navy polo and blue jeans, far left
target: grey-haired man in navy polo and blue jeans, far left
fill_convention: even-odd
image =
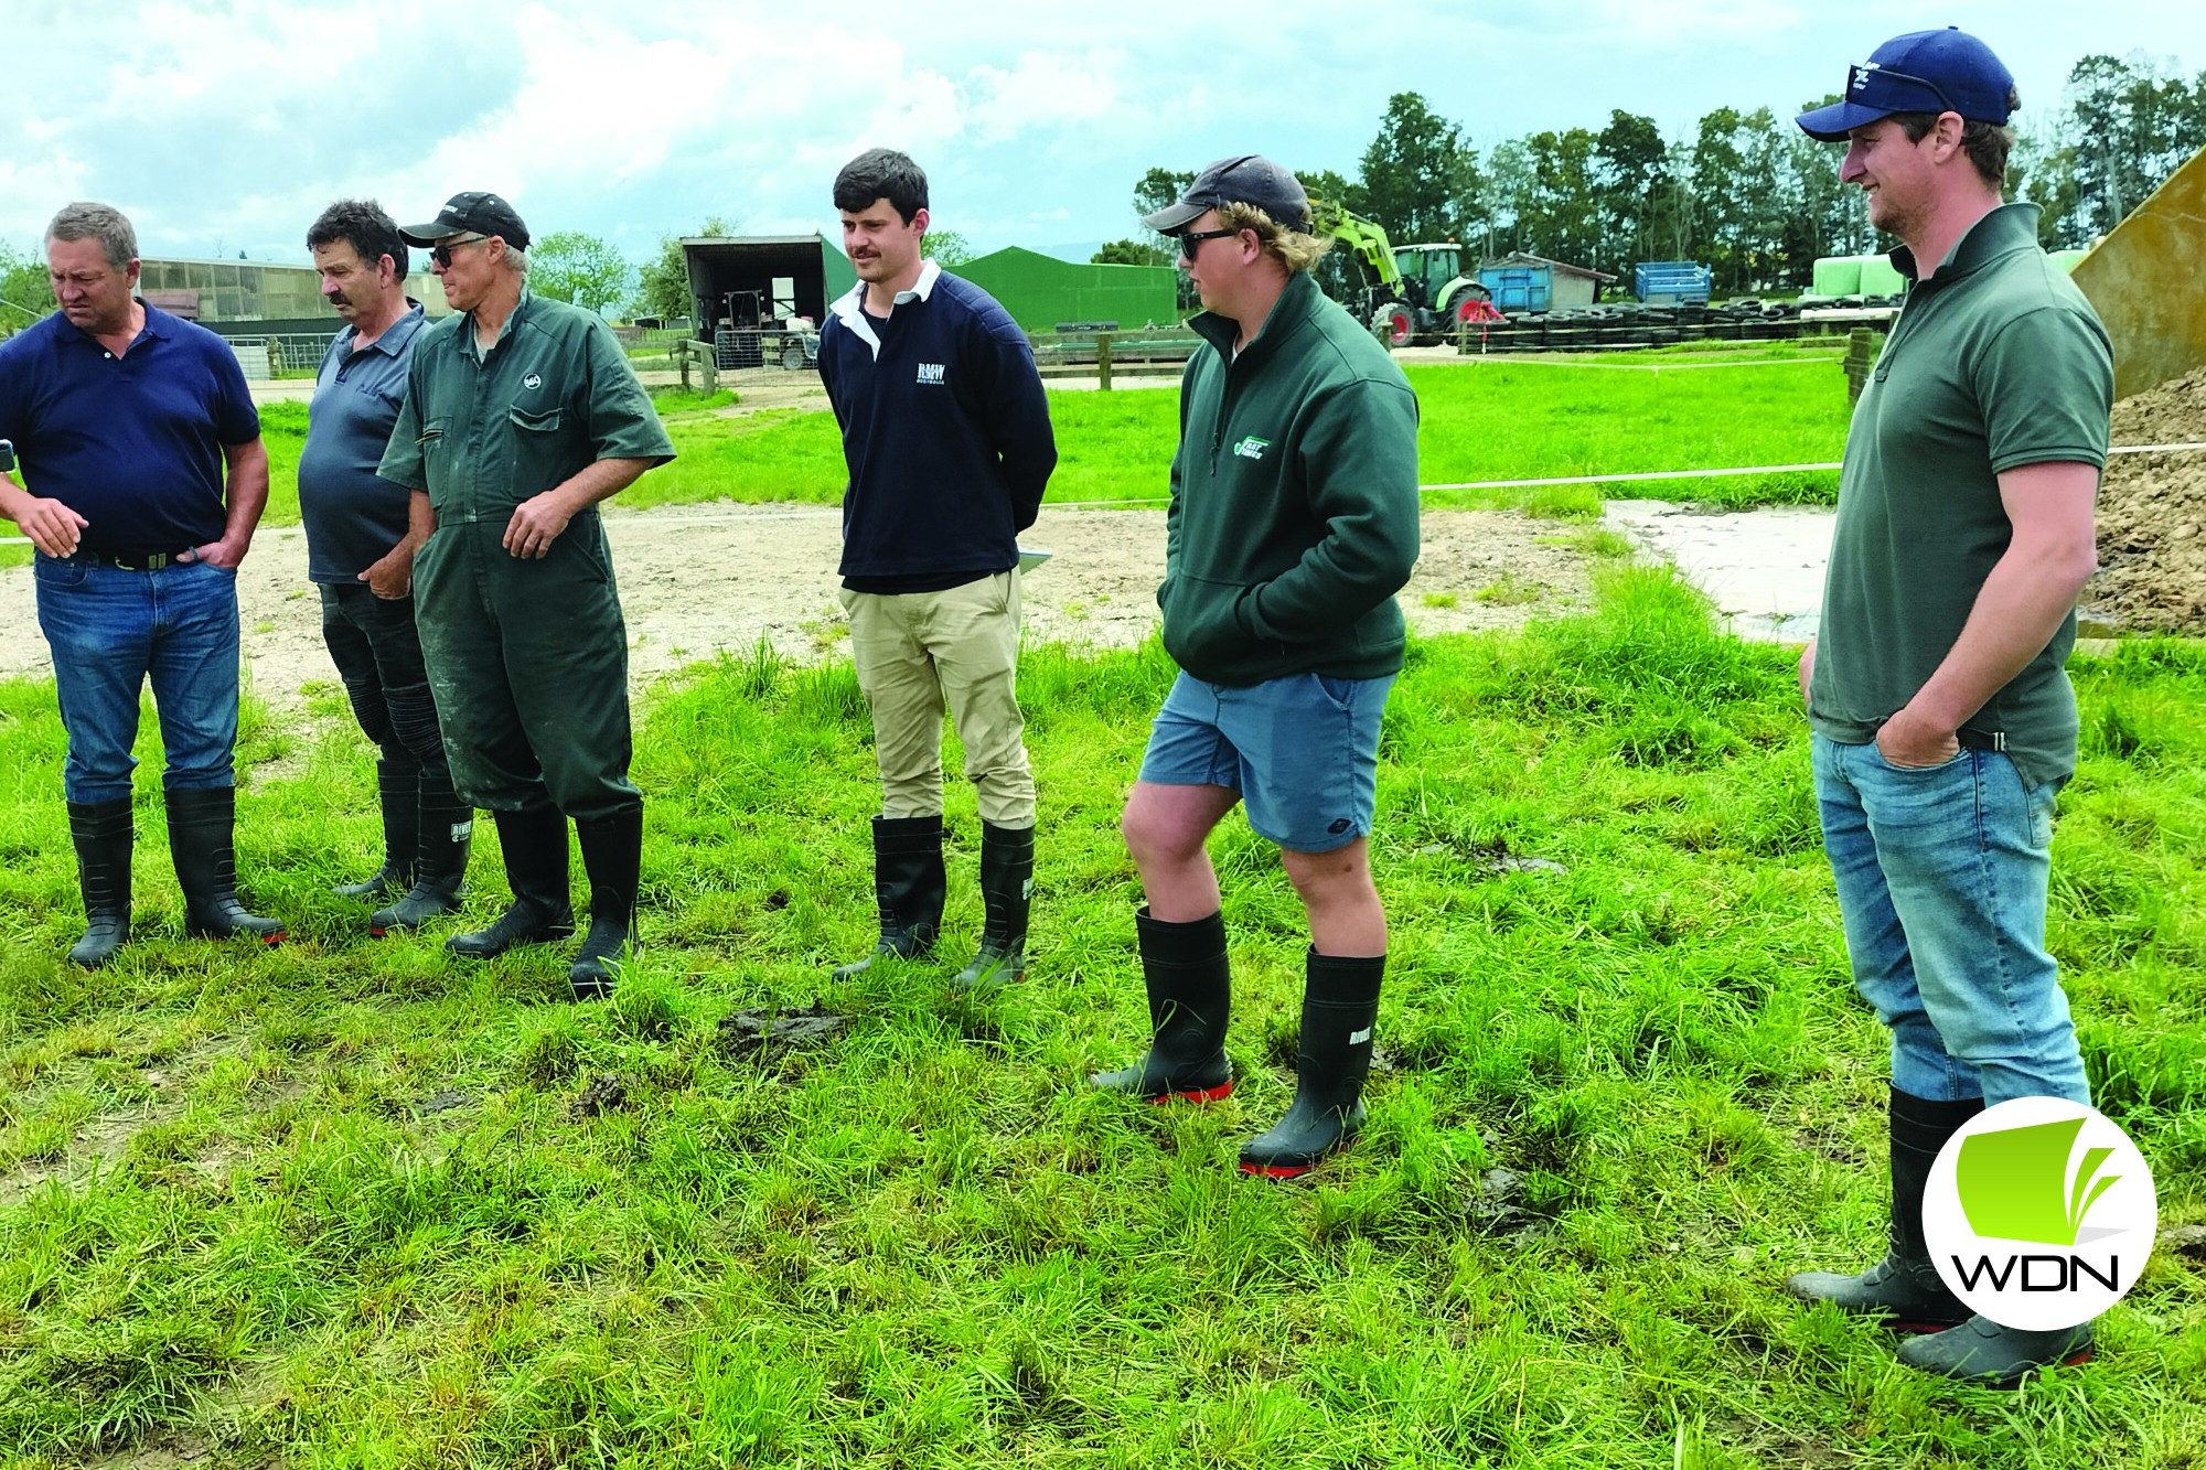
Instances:
[[[73,203],[46,230],[62,309],[0,344],[0,516],[38,547],[38,622],[68,731],[62,790],[86,931],[68,958],[106,965],[130,940],[130,770],[152,680],[168,770],[168,848],[185,931],[282,925],[236,896],[238,563],[269,497],[260,415],[229,347],[148,307],[137,232]]]

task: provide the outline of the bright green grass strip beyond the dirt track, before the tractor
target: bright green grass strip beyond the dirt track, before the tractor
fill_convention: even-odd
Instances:
[[[1610,353],[1610,358],[1624,358]],[[1423,406],[1421,479],[1628,475],[1765,464],[1835,461],[1846,437],[1846,386],[1835,362],[1793,349],[1690,360],[1760,360],[1677,373],[1619,373],[1551,364],[1410,364]],[[660,395],[677,459],[622,492],[624,505],[699,501],[812,501],[843,494],[843,446],[825,411],[765,411],[739,419],[702,411],[702,395]],[[1052,503],[1152,501],[1169,494],[1178,393],[1050,393],[1059,464]],[[274,466],[271,525],[298,521],[298,446],[304,404],[269,404],[263,433]],[[1602,486],[1438,490],[1436,510],[1516,505],[1538,514],[1597,516]],[[1829,503],[1835,472],[1758,475],[1613,486],[1617,494],[1721,505]]]

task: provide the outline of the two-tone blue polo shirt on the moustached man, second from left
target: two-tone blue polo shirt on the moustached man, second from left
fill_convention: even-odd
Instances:
[[[307,576],[357,583],[406,539],[413,490],[375,472],[406,402],[406,360],[421,331],[421,302],[368,347],[346,327],[322,355],[298,457],[298,516],[307,525]]]

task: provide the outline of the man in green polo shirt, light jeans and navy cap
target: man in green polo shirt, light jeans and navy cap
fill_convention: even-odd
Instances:
[[[1875,51],[1800,117],[1904,243],[1906,307],[1846,435],[1820,636],[1800,658],[1846,954],[1893,1033],[1891,1249],[1787,1287],[1919,1331],[1899,1360],[2018,1382],[2089,1324],[1972,1315],[1924,1243],[1939,1148],[2014,1097],[2089,1104],[2045,951],[2054,799],[2076,768],[2063,664],[2096,567],[2113,360],[2089,302],[2001,205],[2014,79],[1961,31]]]

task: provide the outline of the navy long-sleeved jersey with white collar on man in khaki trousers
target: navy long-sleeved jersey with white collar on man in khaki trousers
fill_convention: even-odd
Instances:
[[[929,260],[889,316],[865,283],[821,329],[843,426],[843,585],[940,592],[1008,572],[1057,468],[1035,353],[1010,313]]]

